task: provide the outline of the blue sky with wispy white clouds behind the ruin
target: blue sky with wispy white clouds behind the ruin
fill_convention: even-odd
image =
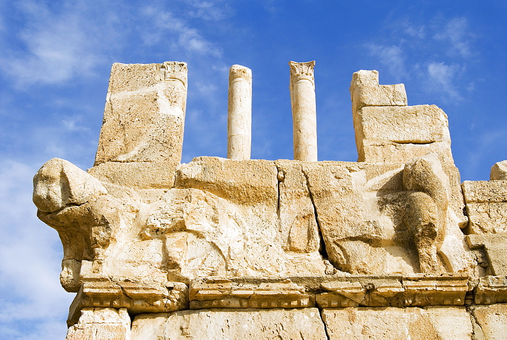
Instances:
[[[507,159],[502,1],[0,0],[0,337],[63,338],[74,294],[31,203],[53,157],[90,168],[114,62],[185,61],[183,162],[227,154],[232,64],[252,69],[252,158],[292,159],[289,60],[316,60],[319,160],[355,161],[348,88],[376,69],[449,117],[462,180]]]

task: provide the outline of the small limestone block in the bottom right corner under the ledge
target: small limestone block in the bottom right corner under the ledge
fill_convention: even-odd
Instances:
[[[486,339],[504,339],[507,334],[507,305],[477,306],[472,315]]]

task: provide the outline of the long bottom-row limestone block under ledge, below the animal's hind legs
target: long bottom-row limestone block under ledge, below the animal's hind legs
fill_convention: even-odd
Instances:
[[[464,307],[349,307],[322,310],[330,339],[470,339]]]

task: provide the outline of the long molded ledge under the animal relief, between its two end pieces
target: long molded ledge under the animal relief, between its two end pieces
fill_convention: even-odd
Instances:
[[[463,306],[468,279],[459,273],[208,278],[191,282],[189,299],[191,309]]]

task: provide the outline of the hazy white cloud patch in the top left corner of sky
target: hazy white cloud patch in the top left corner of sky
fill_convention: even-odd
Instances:
[[[35,83],[58,84],[92,71],[103,58],[91,23],[78,9],[51,13],[41,3],[24,2],[20,11],[25,28],[18,48],[5,49],[2,69],[19,87]]]

